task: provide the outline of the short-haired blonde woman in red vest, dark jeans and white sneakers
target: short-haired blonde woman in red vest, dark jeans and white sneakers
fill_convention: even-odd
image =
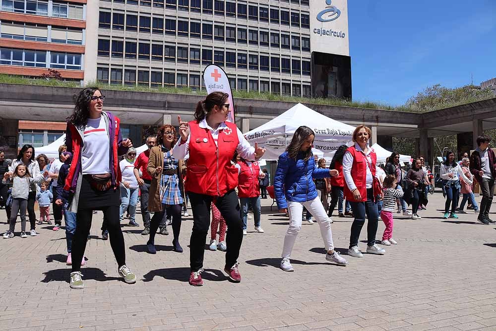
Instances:
[[[367,214],[367,253],[384,254],[386,250],[375,245],[377,232],[377,196],[382,195],[378,180],[375,178],[377,156],[369,147],[372,132],[364,125],[353,132],[354,146],[348,147],[343,156],[343,176],[345,180],[344,195],[351,203],[355,220],[351,226],[350,247],[348,255],[362,258],[358,249],[358,239],[365,224]],[[366,213],[367,211],[367,213]]]

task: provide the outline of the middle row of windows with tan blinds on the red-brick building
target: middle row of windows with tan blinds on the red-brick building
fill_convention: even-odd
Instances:
[[[83,44],[82,29],[9,21],[0,22],[0,37],[59,44]]]

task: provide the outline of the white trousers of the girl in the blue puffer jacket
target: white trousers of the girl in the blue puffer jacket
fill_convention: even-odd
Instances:
[[[293,251],[293,246],[295,246],[298,232],[302,229],[302,215],[304,206],[317,220],[318,225],[320,226],[320,235],[322,236],[325,250],[330,251],[334,249],[334,245],[332,243],[331,223],[322,202],[320,202],[320,199],[317,197],[306,202],[288,201],[289,227],[288,231],[286,231],[286,236],[284,237],[284,247],[281,255],[283,259],[291,256],[291,251]]]

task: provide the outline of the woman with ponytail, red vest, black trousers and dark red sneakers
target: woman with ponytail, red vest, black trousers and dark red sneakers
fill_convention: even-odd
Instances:
[[[238,257],[243,241],[243,221],[238,195],[238,169],[231,163],[237,151],[244,159],[259,159],[264,148],[250,146],[236,124],[226,122],[231,107],[229,95],[212,92],[198,102],[194,121],[179,120],[181,139],[173,148],[173,155],[183,159],[189,153],[186,168],[186,192],[193,211],[193,229],[189,243],[189,284],[203,285],[203,253],[210,225],[210,204],[213,201],[229,228],[226,237],[226,265],[224,271],[234,282],[241,281]]]

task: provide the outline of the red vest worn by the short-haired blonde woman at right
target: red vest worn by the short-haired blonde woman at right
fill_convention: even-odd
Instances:
[[[353,193],[351,193],[350,189],[348,188],[348,185],[346,184],[344,185],[344,196],[349,201],[355,201],[355,202],[367,201],[366,185],[367,185],[367,167],[369,167],[369,163],[368,163],[369,161],[362,152],[359,152],[355,148],[355,146],[348,147],[347,151],[349,151],[353,156],[351,177],[353,177],[353,181],[355,182],[355,185],[357,186],[357,189],[360,192],[360,195],[362,196],[362,200],[360,201],[356,200],[353,197]],[[375,162],[377,161],[377,156],[375,155],[375,152],[371,152],[370,155],[372,159],[372,164],[370,164],[371,172],[372,172],[372,188],[373,188],[373,195],[375,197],[380,193],[378,181],[375,178]]]

